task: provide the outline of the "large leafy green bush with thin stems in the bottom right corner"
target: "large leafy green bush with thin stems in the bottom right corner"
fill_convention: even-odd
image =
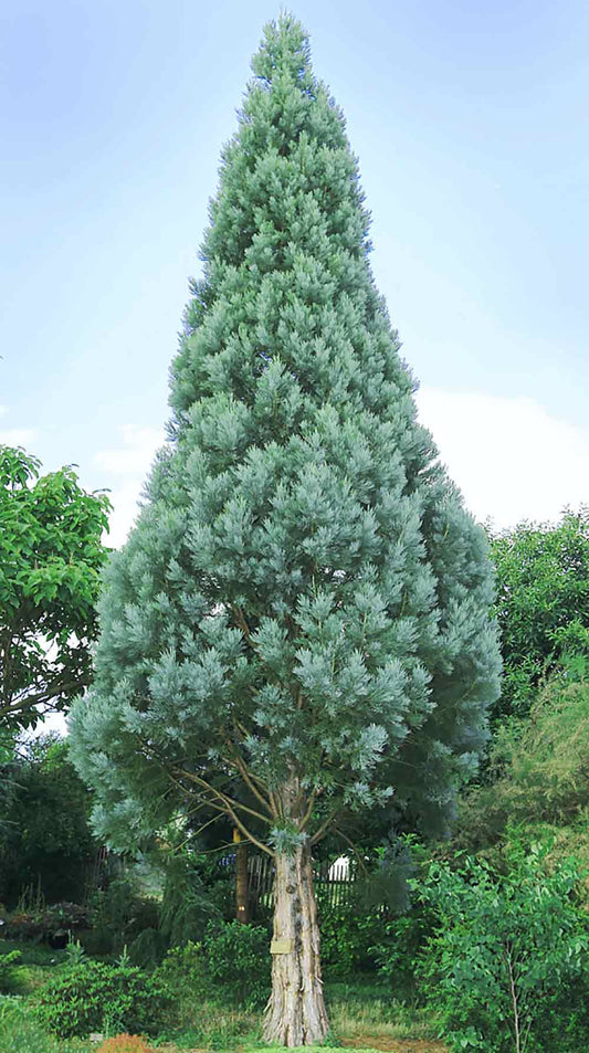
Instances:
[[[574,901],[574,863],[545,870],[536,847],[507,875],[466,857],[433,864],[421,891],[438,915],[422,976],[454,1047],[485,1053],[587,1049],[589,928]]]

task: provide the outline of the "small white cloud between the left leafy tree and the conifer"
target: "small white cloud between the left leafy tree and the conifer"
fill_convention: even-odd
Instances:
[[[109,450],[101,450],[94,456],[94,463],[106,473],[117,477],[108,495],[113,504],[111,530],[105,544],[111,548],[120,548],[138,513],[138,501],[145,478],[154,461],[156,451],[164,444],[162,431],[155,428],[136,428],[126,424],[123,429],[122,444]]]

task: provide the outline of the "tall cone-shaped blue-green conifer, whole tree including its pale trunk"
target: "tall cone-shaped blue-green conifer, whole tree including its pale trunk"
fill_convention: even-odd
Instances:
[[[498,652],[486,539],[417,422],[344,118],[291,17],[253,72],[172,366],[172,442],[107,571],[71,730],[111,841],[202,808],[272,856],[265,1035],[301,1045],[328,1029],[313,846],[392,794],[424,829],[448,822]]]

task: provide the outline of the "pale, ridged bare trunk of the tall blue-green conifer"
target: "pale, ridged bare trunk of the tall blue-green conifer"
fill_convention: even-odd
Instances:
[[[264,1038],[281,1045],[314,1045],[329,1029],[323,999],[319,928],[311,847],[276,855],[272,994]]]

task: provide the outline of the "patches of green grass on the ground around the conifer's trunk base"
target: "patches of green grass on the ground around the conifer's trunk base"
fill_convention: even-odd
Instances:
[[[64,952],[41,945],[0,943],[0,954],[13,949],[23,955],[15,970],[19,997],[0,997],[0,1053],[95,1053],[95,1042],[48,1035],[31,1013],[30,997],[64,967]],[[333,1045],[356,1053],[448,1053],[435,1040],[431,1014],[395,1001],[382,984],[361,978],[354,983],[327,982],[326,998]],[[151,1040],[155,1053],[261,1053],[270,1049],[262,1042],[260,1013],[201,999],[185,1000],[176,1009],[177,1019]],[[318,1053],[319,1047],[305,1046],[306,1053],[313,1049]]]

